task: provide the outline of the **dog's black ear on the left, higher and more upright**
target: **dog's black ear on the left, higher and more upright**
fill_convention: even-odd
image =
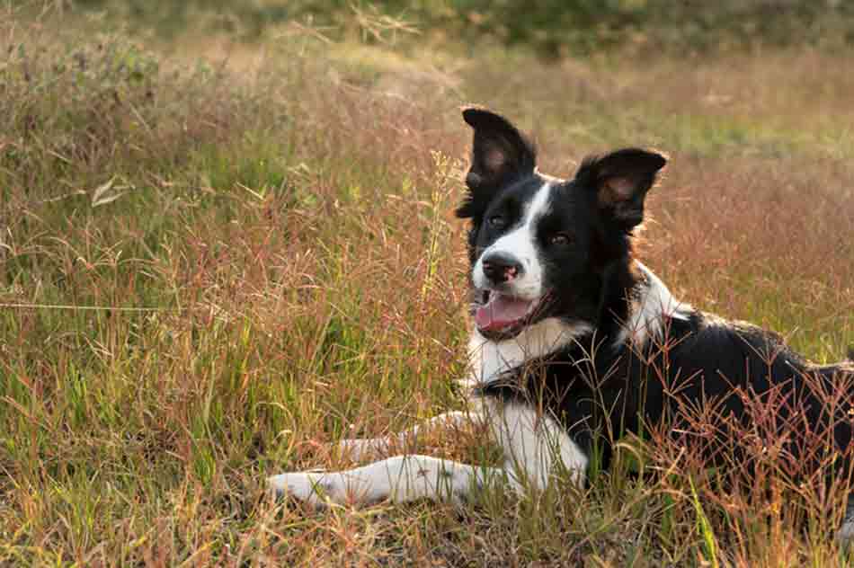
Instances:
[[[501,115],[470,106],[463,109],[463,120],[475,130],[475,136],[466,176],[468,196],[457,209],[457,217],[478,217],[492,191],[534,171],[537,153],[528,138]]]

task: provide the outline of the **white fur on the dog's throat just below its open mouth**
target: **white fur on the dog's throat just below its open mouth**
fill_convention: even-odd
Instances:
[[[526,360],[553,353],[591,331],[589,324],[566,324],[556,317],[529,325],[503,342],[489,341],[475,329],[468,340],[470,379],[476,384],[489,383]]]

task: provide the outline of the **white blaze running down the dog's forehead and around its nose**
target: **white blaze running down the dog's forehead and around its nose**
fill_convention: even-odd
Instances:
[[[525,269],[524,274],[512,281],[512,291],[517,297],[535,300],[543,293],[543,263],[537,249],[537,221],[548,212],[552,180],[546,180],[534,197],[525,204],[521,222],[507,235],[491,244],[477,259],[472,280],[476,288],[487,288],[482,260],[492,253],[512,255]]]

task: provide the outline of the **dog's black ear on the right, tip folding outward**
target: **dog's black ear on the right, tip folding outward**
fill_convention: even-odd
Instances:
[[[600,210],[630,229],[644,220],[646,192],[664,164],[667,158],[662,154],[625,148],[585,159],[575,179],[596,191]]]

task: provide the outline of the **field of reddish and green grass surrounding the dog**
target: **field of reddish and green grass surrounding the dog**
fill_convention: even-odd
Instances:
[[[844,358],[850,51],[543,59],[358,7],[344,33],[282,20],[248,41],[16,5],[0,6],[0,564],[854,559],[832,537],[840,495],[773,479],[721,495],[643,440],[583,491],[465,508],[314,511],[263,487],[351,466],[337,439],[462,407],[465,102],[518,120],[547,173],[666,151],[645,263],[695,306]],[[496,458],[476,431],[413,449]],[[627,475],[638,463],[650,475]]]

